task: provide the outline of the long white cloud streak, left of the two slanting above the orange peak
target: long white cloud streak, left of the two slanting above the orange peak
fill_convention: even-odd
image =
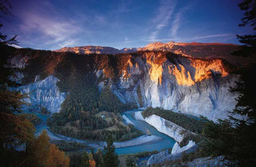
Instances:
[[[157,16],[154,17],[153,23],[155,28],[149,35],[149,41],[156,41],[157,36],[162,28],[165,28],[169,24],[169,20],[172,17],[173,9],[176,6],[176,1],[162,0],[157,11]]]

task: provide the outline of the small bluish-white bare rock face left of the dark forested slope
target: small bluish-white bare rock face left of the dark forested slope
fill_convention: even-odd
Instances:
[[[44,80],[40,81],[37,77],[32,84],[20,86],[18,90],[22,94],[29,94],[29,98],[26,98],[25,101],[30,106],[25,109],[40,112],[41,108],[46,108],[48,112],[60,112],[60,104],[65,99],[65,93],[60,93],[56,82],[58,82],[58,79],[50,75]]]

